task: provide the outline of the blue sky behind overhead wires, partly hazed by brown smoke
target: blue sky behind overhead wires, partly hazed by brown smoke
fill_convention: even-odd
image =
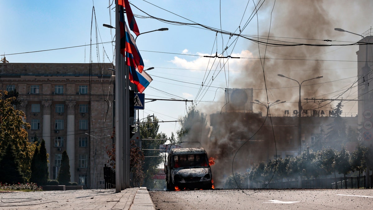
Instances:
[[[112,43],[93,45],[92,48],[86,46],[25,53],[112,41],[115,31],[102,26],[115,25],[114,5],[109,7],[111,2],[0,0],[0,57],[5,55],[12,63],[112,62]],[[299,81],[323,75],[322,79],[305,83],[312,86],[302,86],[302,98],[333,98],[356,79],[355,52],[358,46],[258,46],[235,35],[230,37],[200,26],[170,24],[169,21],[198,23],[232,34],[239,33],[240,28],[241,34],[253,38],[270,33],[273,40],[312,44],[353,43],[360,37],[334,31],[334,28],[361,34],[372,26],[369,14],[373,3],[370,0],[130,2],[134,4],[131,8],[137,16],[140,33],[169,28],[168,31],[141,34],[137,38],[145,69],[154,67],[154,70],[148,71],[153,81],[144,91],[145,98],[193,100],[197,109],[206,114],[220,112],[227,87],[254,88],[253,99],[261,102],[286,101],[273,106],[271,112],[275,115],[282,115],[285,109],[297,109],[297,84],[277,74]],[[259,3],[257,16],[252,15],[255,11],[253,2]],[[148,18],[149,15],[166,22]],[[333,41],[322,41],[326,39]],[[227,61],[203,57],[216,52],[219,55],[226,47],[225,56],[240,59]],[[11,55],[13,53],[22,54]],[[271,59],[263,60],[264,56]],[[202,86],[202,83],[205,85]],[[356,99],[356,90],[352,89],[340,98]],[[327,105],[325,110],[336,103]],[[160,121],[179,120],[191,105],[190,102],[176,101],[148,102],[145,110],[140,111],[140,118],[154,114]],[[344,112],[357,112],[357,103],[345,102],[344,105]],[[304,101],[303,106],[303,109],[312,109],[320,105]],[[262,106],[254,105],[253,108],[254,111],[265,111]],[[179,128],[178,122],[160,123],[160,131],[167,136]]]

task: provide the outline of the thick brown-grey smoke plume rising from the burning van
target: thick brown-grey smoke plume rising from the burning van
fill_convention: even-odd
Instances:
[[[269,19],[258,23],[260,41],[267,41],[268,38],[268,42],[272,43],[276,43],[274,40],[278,40],[277,43],[288,41],[289,44],[329,44],[322,40],[335,37],[334,28],[341,25],[338,19],[333,16],[335,14],[332,13],[338,8],[330,8],[329,3],[330,1],[324,2],[322,0],[276,1],[271,25]],[[339,1],[338,4],[343,3]],[[258,15],[269,18],[272,6],[273,1],[266,1],[258,11]],[[254,10],[254,8],[251,9]],[[251,29],[251,32],[256,30],[256,24],[252,24]],[[268,35],[269,37],[266,37]],[[304,103],[303,98],[320,96],[329,93],[332,89],[331,84],[324,84],[326,81],[335,79],[335,75],[324,71],[330,68],[330,64],[322,61],[323,53],[327,50],[325,47],[266,47],[263,44],[258,46],[256,43],[251,43],[248,45],[248,50],[261,59],[253,59],[249,62],[244,67],[244,72],[231,84],[239,84],[234,88],[253,88],[253,99],[257,99],[264,104],[267,103],[267,100],[269,102],[286,101],[286,103],[270,107],[270,113],[280,115],[283,114],[285,109],[291,111],[298,109],[298,83],[288,78],[279,77],[278,74],[291,77],[299,82],[323,75],[322,79],[307,81],[302,85],[303,109],[315,109],[318,105],[314,102]],[[224,99],[221,101],[224,101]],[[264,106],[256,104],[253,104],[253,106],[254,112],[255,110],[261,111],[264,116],[266,115],[267,109]],[[330,106],[328,108],[330,109]],[[193,129],[189,132],[194,133],[194,136],[187,135],[183,140],[200,141],[201,146],[207,149],[209,156],[217,158],[216,164],[212,166],[216,187],[222,188],[226,178],[232,175],[232,171],[244,173],[252,164],[267,160],[267,158],[273,158],[268,157],[269,147],[274,147],[273,138],[264,139],[260,136],[268,135],[267,132],[272,133],[269,119],[267,119],[267,122],[263,122],[261,114],[221,113],[222,106],[210,106],[206,110],[204,113],[207,113],[207,116],[211,117],[210,120],[214,121],[212,127],[199,124],[198,119],[196,119]],[[211,111],[216,111],[216,113],[212,114]],[[286,122],[281,121],[276,123],[286,124]],[[262,124],[264,126],[261,126]],[[256,133],[259,129],[263,130]],[[298,135],[294,128],[282,129],[282,132],[280,135],[286,136],[286,132],[288,132],[294,138],[297,138]],[[315,133],[318,132],[318,130],[315,130]],[[248,137],[253,135],[256,135],[256,140],[249,140]],[[280,141],[279,143],[281,144]],[[281,147],[281,145],[277,146]]]

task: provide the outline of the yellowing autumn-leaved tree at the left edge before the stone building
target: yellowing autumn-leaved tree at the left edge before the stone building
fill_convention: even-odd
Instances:
[[[35,144],[27,140],[26,129],[31,127],[23,121],[26,117],[23,111],[13,107],[15,101],[16,97],[9,97],[7,91],[0,90],[0,152],[10,143],[15,150],[21,172],[29,179]]]

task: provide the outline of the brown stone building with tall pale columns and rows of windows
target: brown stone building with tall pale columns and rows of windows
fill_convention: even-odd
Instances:
[[[103,188],[103,167],[112,146],[112,64],[0,63],[0,89],[19,92],[30,141],[44,139],[49,178],[57,179],[62,152],[71,182]]]

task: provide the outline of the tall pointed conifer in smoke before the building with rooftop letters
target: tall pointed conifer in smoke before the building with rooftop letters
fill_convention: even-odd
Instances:
[[[342,101],[337,104],[336,108],[333,109],[333,122],[327,124],[329,126],[327,130],[329,131],[326,133],[326,147],[335,148],[337,144],[340,145],[340,142],[346,142],[347,140],[346,122],[341,117],[342,106]]]

